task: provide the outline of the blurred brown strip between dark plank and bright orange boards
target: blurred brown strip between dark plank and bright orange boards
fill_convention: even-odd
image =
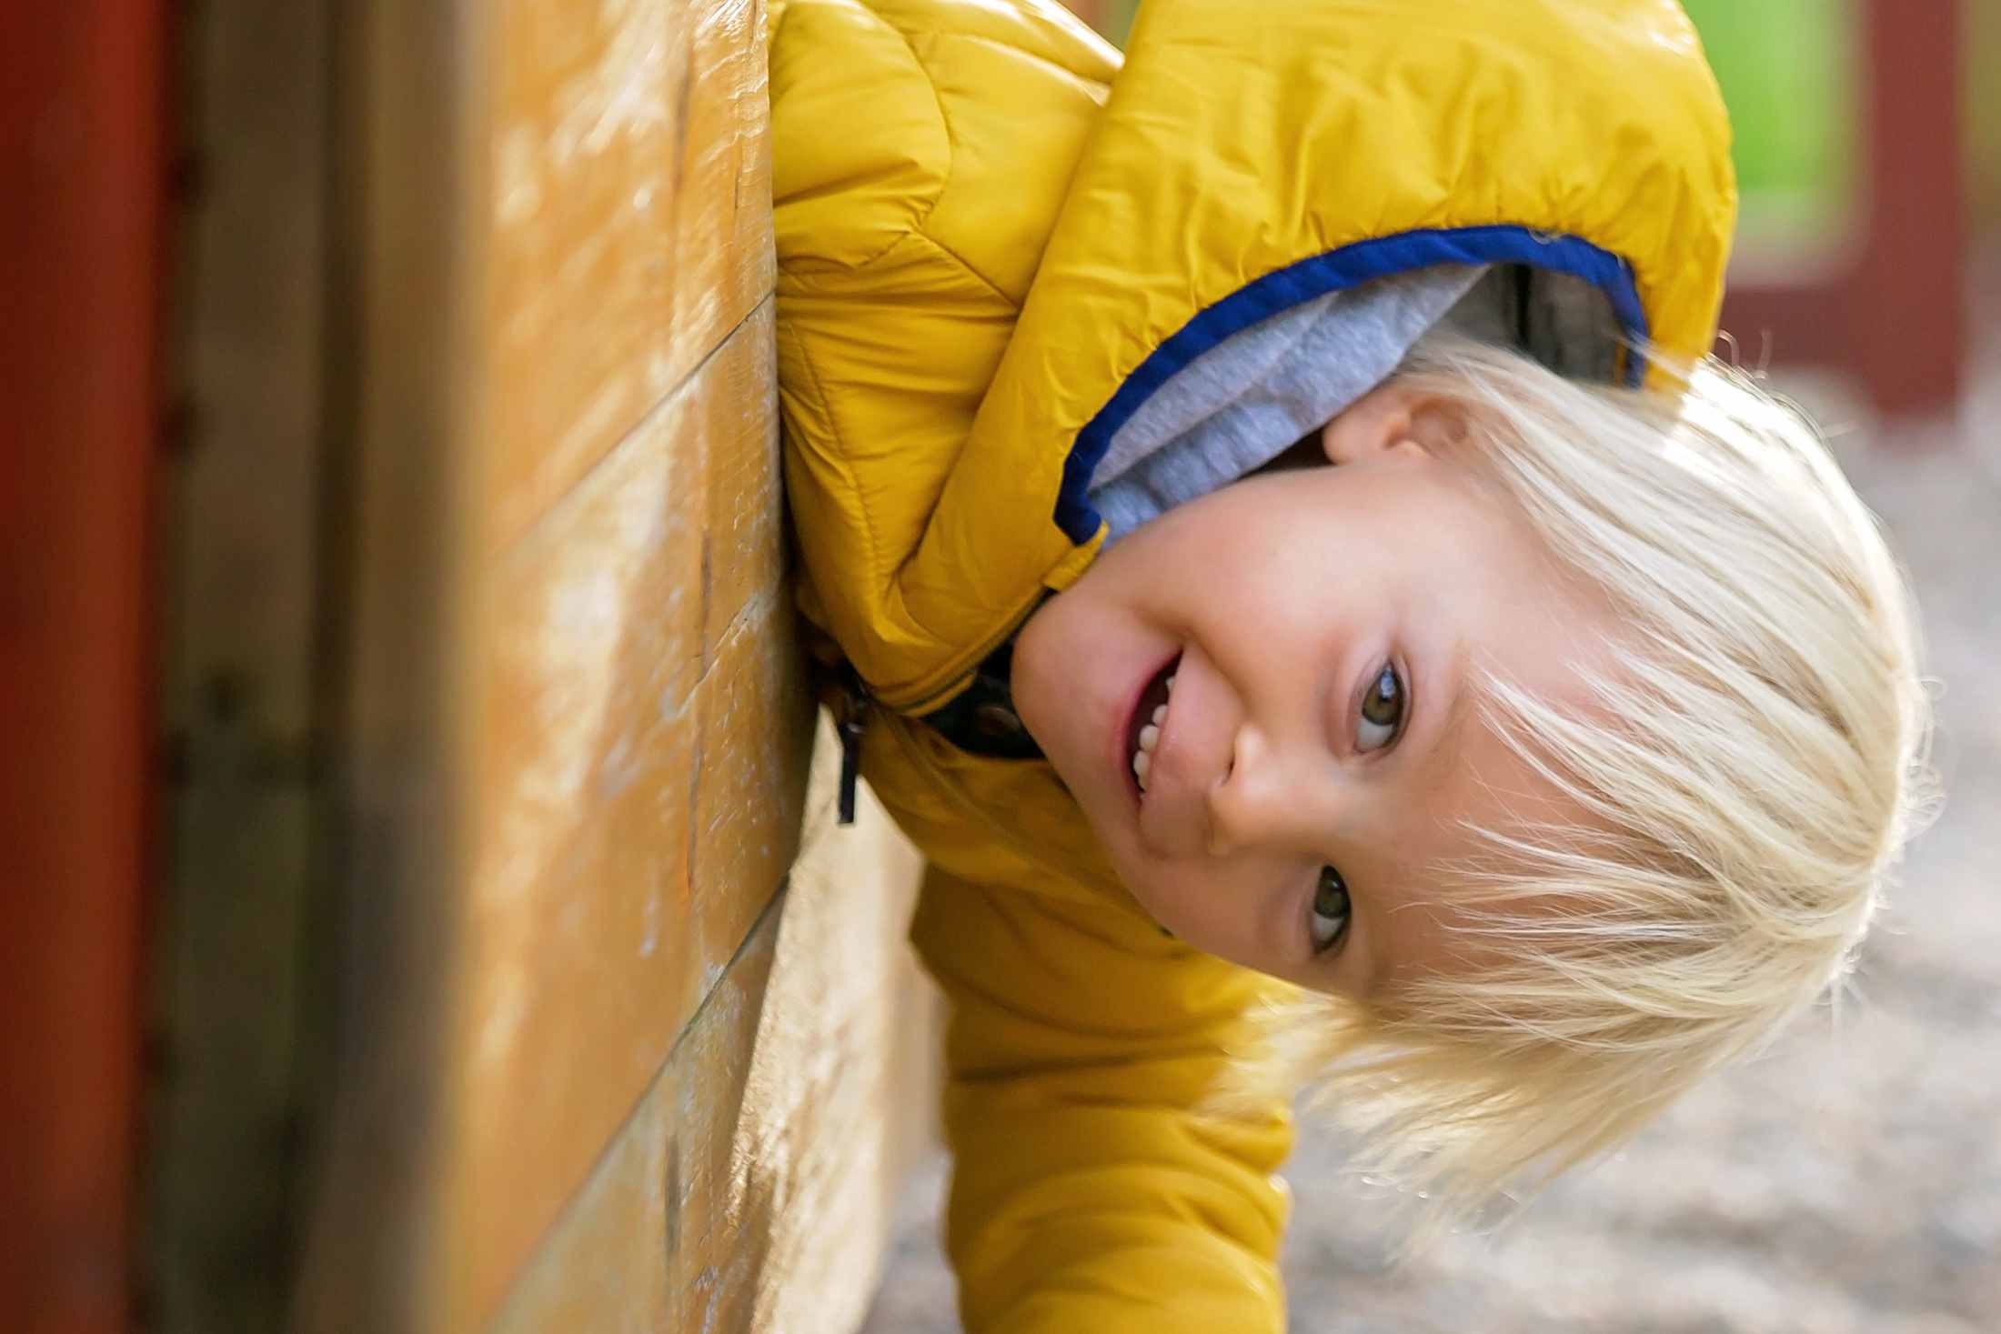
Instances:
[[[466,866],[468,442],[482,432],[486,14],[360,0],[330,30],[326,624],[342,954],[326,1132],[296,1222],[296,1334],[446,1330],[446,1016]],[[462,1326],[460,1326],[462,1328]]]

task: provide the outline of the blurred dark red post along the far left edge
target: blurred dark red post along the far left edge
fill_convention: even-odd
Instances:
[[[0,1330],[130,1328],[160,0],[0,14]]]

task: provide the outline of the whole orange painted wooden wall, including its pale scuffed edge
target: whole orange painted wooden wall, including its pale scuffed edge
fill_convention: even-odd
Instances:
[[[302,1330],[866,1306],[930,1002],[912,854],[808,816],[762,40],[756,0],[346,30],[374,950]]]

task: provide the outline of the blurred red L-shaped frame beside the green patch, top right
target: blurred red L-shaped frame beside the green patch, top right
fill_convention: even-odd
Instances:
[[[1733,280],[1723,328],[1747,360],[1855,376],[1883,414],[1949,412],[1967,370],[1967,172],[1959,110],[1959,0],[1861,0],[1857,236],[1807,280]]]

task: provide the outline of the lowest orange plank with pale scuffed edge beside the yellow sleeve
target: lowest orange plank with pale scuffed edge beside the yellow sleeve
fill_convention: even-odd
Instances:
[[[936,998],[904,942],[920,860],[866,790],[858,822],[834,826],[836,768],[822,722],[780,910],[524,1268],[498,1334],[840,1334],[866,1308],[886,1210],[928,1142]]]

